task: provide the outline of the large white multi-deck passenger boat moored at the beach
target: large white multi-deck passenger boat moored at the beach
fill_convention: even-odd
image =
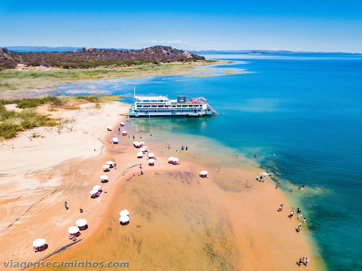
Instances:
[[[216,111],[204,97],[186,99],[179,95],[177,99],[167,96],[134,96],[129,116],[132,117],[202,117],[216,115]]]

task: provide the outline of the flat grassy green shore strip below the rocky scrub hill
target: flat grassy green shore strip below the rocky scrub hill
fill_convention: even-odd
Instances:
[[[29,96],[42,96],[54,92],[51,88],[58,84],[81,82],[82,80],[126,80],[147,76],[192,75],[193,69],[216,64],[227,64],[232,61],[217,60],[212,63],[164,63],[144,64],[119,68],[90,69],[50,69],[50,70],[18,70],[0,71],[0,98],[14,99]],[[39,73],[42,76],[38,76]],[[97,93],[94,93],[96,95]],[[104,95],[106,93],[100,93]]]

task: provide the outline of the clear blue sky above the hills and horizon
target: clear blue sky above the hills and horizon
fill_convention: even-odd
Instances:
[[[362,1],[0,1],[1,47],[153,45],[362,53]]]

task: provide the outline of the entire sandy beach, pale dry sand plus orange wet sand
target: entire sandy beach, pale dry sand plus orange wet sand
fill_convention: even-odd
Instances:
[[[127,261],[131,270],[294,270],[299,257],[313,259],[311,240],[296,233],[302,221],[287,216],[296,207],[268,177],[257,182],[258,169],[223,168],[218,174],[191,151],[178,155],[181,165],[168,164],[175,148],[166,151],[166,142],[139,139],[126,121],[131,137],[119,135],[125,117],[117,114],[126,111],[117,103],[68,111],[63,118],[76,118],[71,131],[37,128],[43,138],[30,141],[23,132],[3,144],[1,156],[8,159],[1,165],[1,240],[9,244],[0,253],[3,261]],[[108,125],[113,131],[106,131]],[[136,157],[132,134],[155,153],[155,166],[147,165],[146,155]],[[119,144],[109,143],[114,136]],[[117,170],[104,173],[109,160]],[[145,175],[138,175],[139,164]],[[210,177],[200,178],[202,170]],[[102,174],[108,175],[105,184]],[[89,191],[98,184],[107,192],[92,199]],[[122,226],[118,213],[125,208],[130,224]],[[72,242],[67,229],[80,218],[89,227]],[[34,253],[36,238],[47,240],[45,251]],[[308,266],[323,268],[316,261]]]

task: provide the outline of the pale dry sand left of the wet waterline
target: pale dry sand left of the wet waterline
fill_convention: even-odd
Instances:
[[[67,228],[80,218],[79,208],[83,208],[81,216],[88,224],[99,223],[99,213],[105,205],[94,204],[89,191],[100,183],[102,174],[97,169],[109,160],[102,159],[106,127],[116,128],[115,124],[125,118],[118,114],[127,110],[112,102],[101,109],[90,106],[66,111],[62,117],[69,121],[61,131],[39,127],[1,143],[0,156],[6,159],[1,159],[0,169],[0,236],[8,244],[7,250],[1,251],[1,259],[37,261],[68,245]],[[41,136],[30,139],[33,132]],[[112,183],[105,185],[111,187]],[[109,200],[108,195],[102,196],[102,202]],[[34,253],[32,241],[37,238],[45,238],[47,244],[53,245],[42,253]]]

